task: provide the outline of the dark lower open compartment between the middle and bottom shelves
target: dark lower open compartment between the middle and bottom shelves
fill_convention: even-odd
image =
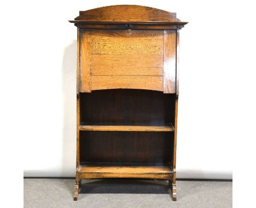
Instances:
[[[170,163],[173,135],[166,131],[80,131],[80,162]]]

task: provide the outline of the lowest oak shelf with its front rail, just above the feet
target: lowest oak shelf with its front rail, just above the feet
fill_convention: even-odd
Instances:
[[[173,171],[170,163],[81,163],[79,179],[144,178],[170,180]]]

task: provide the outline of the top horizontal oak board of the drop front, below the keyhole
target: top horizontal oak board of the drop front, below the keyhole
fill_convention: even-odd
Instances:
[[[92,54],[163,54],[161,30],[93,30]]]

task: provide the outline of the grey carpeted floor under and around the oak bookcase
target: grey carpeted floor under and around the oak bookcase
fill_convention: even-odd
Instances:
[[[232,207],[231,181],[177,181],[172,201],[167,181],[83,180],[73,201],[74,179],[24,179],[24,207]]]

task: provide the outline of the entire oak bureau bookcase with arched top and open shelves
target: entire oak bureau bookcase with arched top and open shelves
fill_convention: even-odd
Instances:
[[[168,180],[176,200],[176,13],[138,5],[80,11],[77,169],[82,179]]]

